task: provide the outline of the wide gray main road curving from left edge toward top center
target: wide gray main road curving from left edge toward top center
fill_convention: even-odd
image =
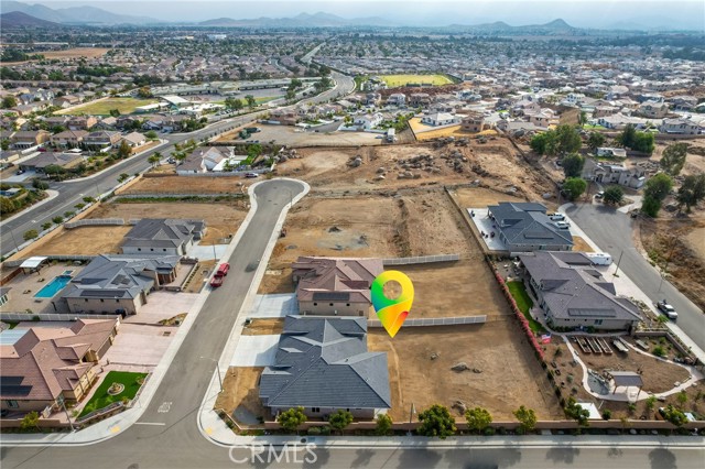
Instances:
[[[351,77],[333,72],[332,78],[336,83],[334,88],[307,99],[306,102],[323,102],[352,91],[355,81]],[[63,215],[66,211],[75,211],[75,205],[82,203],[85,196],[95,197],[97,194],[108,193],[118,184],[118,177],[120,174],[134,174],[145,171],[150,166],[150,163],[148,163],[147,160],[154,154],[154,152],[159,151],[162,155],[167,156],[174,150],[174,143],[184,142],[191,139],[199,141],[203,138],[215,137],[216,134],[224,133],[230,129],[251,122],[252,120],[264,116],[265,112],[267,111],[260,111],[226,119],[212,123],[195,132],[165,134],[162,139],[167,140],[170,142],[169,145],[151,150],[139,156],[133,156],[120,162],[93,177],[52,184],[51,188],[59,193],[55,199],[40,207],[25,210],[14,219],[0,223],[0,254],[6,255],[13,251],[15,249],[15,241],[18,244],[22,244],[22,242],[24,242],[24,232],[31,229],[41,231],[41,226],[46,221],[51,221],[55,216]]]

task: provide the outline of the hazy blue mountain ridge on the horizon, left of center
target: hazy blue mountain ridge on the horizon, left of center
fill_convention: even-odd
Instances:
[[[345,19],[330,13],[301,13],[293,18],[256,18],[251,20],[234,20],[218,18],[197,23],[199,26],[219,28],[343,28],[343,26],[393,26],[383,18]]]

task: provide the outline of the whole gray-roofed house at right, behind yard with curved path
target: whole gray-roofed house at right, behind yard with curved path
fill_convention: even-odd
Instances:
[[[533,252],[519,259],[552,327],[632,330],[642,319],[637,305],[618,296],[583,252]]]

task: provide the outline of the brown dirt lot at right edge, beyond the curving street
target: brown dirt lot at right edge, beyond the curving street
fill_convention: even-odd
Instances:
[[[652,262],[699,308],[705,309],[705,214],[673,218],[666,212],[641,220],[641,243]]]

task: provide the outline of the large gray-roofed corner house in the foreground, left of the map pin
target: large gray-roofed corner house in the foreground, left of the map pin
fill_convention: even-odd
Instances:
[[[387,353],[367,350],[365,318],[288,316],[260,399],[272,415],[301,406],[308,417],[375,418],[392,405]]]

